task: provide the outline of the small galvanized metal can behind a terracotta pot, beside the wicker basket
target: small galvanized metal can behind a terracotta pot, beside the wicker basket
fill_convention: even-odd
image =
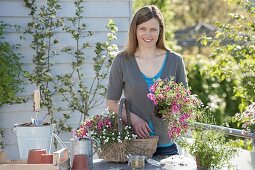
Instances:
[[[80,140],[71,139],[72,148],[71,148],[71,165],[73,163],[74,155],[86,155],[88,157],[89,168],[93,168],[93,155],[96,150],[93,152],[93,139],[82,138]],[[96,142],[96,141],[95,141]]]

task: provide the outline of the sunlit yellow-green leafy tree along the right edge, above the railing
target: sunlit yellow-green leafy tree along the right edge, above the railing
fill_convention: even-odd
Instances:
[[[235,97],[241,99],[240,110],[255,100],[255,3],[243,0],[228,0],[237,8],[229,16],[232,23],[218,24],[215,37],[204,36],[201,42],[209,42],[213,49],[212,66],[206,73],[220,80],[234,80]]]

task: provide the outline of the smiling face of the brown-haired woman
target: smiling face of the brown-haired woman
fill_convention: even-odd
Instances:
[[[139,47],[156,47],[159,36],[159,22],[156,18],[152,18],[147,22],[137,25],[137,41]]]

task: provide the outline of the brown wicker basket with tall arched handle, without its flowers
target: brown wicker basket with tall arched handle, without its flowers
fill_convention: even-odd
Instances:
[[[125,98],[120,100],[118,111],[118,131],[122,135],[122,109],[125,104],[127,124],[131,126],[129,105]],[[110,143],[100,146],[97,153],[100,159],[111,162],[126,162],[127,155],[144,155],[149,158],[152,157],[157,149],[158,136],[153,136],[148,139],[133,139],[131,141],[123,141],[122,143]]]

